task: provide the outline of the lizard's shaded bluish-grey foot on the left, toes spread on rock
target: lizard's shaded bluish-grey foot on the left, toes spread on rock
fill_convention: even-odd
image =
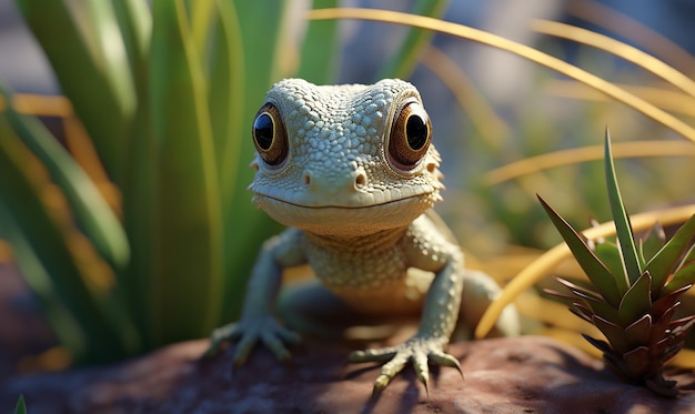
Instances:
[[[242,319],[238,323],[214,330],[210,337],[210,347],[205,351],[204,356],[209,357],[216,354],[220,346],[228,341],[238,341],[236,351],[234,352],[234,364],[242,365],[259,340],[275,354],[278,360],[284,361],[290,357],[290,351],[288,351],[285,344],[294,345],[299,343],[300,336],[295,332],[281,326],[271,316]]]

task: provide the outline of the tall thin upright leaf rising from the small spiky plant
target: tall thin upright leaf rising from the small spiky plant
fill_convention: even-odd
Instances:
[[[613,164],[613,154],[611,152],[611,134],[607,128],[605,137],[604,163],[608,200],[611,201],[611,212],[613,213],[613,221],[615,222],[615,232],[617,235],[617,245],[621,248],[621,252],[623,254],[623,263],[625,265],[627,280],[629,281],[629,284],[633,284],[642,275],[642,269],[639,269],[637,248],[635,246],[635,239],[632,225],[629,224],[629,218],[625,212],[625,205],[623,204],[621,191],[617,185],[615,165]]]

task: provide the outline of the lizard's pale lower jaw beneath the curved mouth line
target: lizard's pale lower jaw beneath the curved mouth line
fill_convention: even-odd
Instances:
[[[409,225],[440,200],[425,193],[363,205],[304,205],[255,193],[253,201],[279,223],[329,235],[360,235]]]

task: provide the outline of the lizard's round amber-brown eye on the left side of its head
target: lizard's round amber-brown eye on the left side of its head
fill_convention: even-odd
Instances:
[[[270,102],[261,107],[253,120],[253,143],[270,165],[279,165],[288,156],[288,133],[280,111]]]

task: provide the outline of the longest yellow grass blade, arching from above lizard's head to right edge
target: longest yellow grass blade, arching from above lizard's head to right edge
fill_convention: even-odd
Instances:
[[[551,57],[536,49],[514,42],[512,40],[473,29],[463,24],[456,24],[439,19],[433,19],[424,16],[415,16],[409,13],[401,13],[396,11],[387,10],[374,10],[374,9],[322,9],[312,10],[309,12],[310,19],[362,19],[382,21],[387,23],[397,23],[412,26],[421,29],[433,30],[441,33],[455,36],[463,39],[469,39],[483,44],[492,46],[494,48],[517,54],[524,59],[550,68],[570,78],[576,79],[597,91],[605,93],[613,99],[627,104],[631,108],[642,112],[644,115],[653,119],[654,121],[672,129],[678,134],[695,142],[695,128],[686,124],[669,113],[662,111],[653,104],[628,93],[622,88],[601,79],[592,73],[588,73],[573,64],[562,61],[557,58]]]

